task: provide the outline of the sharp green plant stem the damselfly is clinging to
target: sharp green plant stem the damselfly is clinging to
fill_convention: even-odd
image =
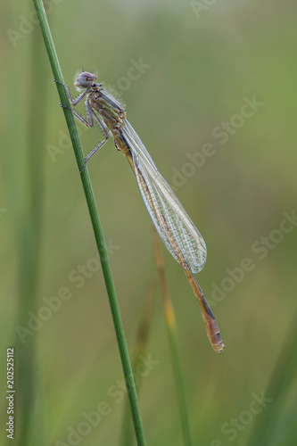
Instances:
[[[54,41],[51,35],[51,31],[49,29],[48,21],[45,15],[45,8],[42,3],[42,0],[34,0],[34,4],[37,10],[37,16],[40,22],[41,31],[45,41],[45,48],[48,54],[49,61],[52,66],[52,70],[54,73],[54,79],[59,82],[63,82],[62,78],[62,70],[58,61],[58,56],[55,52]],[[60,84],[56,84],[58,88],[58,93],[60,95],[61,103],[64,106],[70,107],[70,103],[68,97],[65,92],[65,88]],[[73,145],[74,153],[78,162],[78,169],[81,171],[84,165],[84,153],[82,151],[82,147],[78,138],[78,131],[74,122],[74,118],[72,112],[68,109],[63,109],[65,114],[65,119],[70,131],[70,138]],[[106,250],[106,244],[103,238],[103,229],[101,226],[101,222],[99,219],[98,210],[95,203],[95,196],[93,193],[93,188],[91,185],[91,180],[88,175],[87,168],[80,175],[82,185],[84,188],[84,192],[87,200],[87,207],[90,214],[90,218],[92,221],[92,226],[95,235],[95,241],[97,244],[101,265],[103,268],[103,277],[105,281],[105,286],[108,294],[108,298],[111,306],[111,315],[113,319],[113,324],[117,336],[117,341],[120,350],[120,359],[122,363],[122,368],[126,380],[127,390],[128,390],[128,399],[130,402],[130,408],[132,412],[133,423],[136,432],[136,441],[138,445],[144,446],[144,428],[142,424],[142,419],[140,416],[139,405],[137,401],[136,395],[136,386],[134,383],[134,378],[132,374],[132,368],[130,364],[130,360],[128,357],[128,347],[124,334],[124,328],[122,325],[122,321],[120,318],[120,308],[119,303],[115,291],[115,286],[113,283],[113,278],[111,274],[111,266],[108,259],[108,253]]]

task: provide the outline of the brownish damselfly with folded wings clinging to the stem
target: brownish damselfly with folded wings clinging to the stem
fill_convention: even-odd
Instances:
[[[94,127],[96,121],[105,136],[105,139],[87,155],[81,171],[85,169],[91,156],[106,143],[110,137],[109,132],[111,132],[114,145],[126,155],[128,163],[135,173],[144,204],[161,240],[170,254],[184,268],[186,277],[192,285],[201,306],[210,343],[215,351],[221,352],[225,346],[219,335],[219,327],[202,289],[193,276],[194,273],[202,270],[206,261],[206,245],[202,235],[194,226],[168,183],[161,177],[150,154],[145,149],[144,143],[128,122],[123,106],[104,90],[103,84],[97,84],[95,80],[95,75],[87,71],[78,74],[74,85],[78,91],[84,91],[76,99],[72,99],[69,87],[62,84],[66,88],[73,106],[76,106],[86,96],[86,119],[71,108],[74,116],[87,127]]]

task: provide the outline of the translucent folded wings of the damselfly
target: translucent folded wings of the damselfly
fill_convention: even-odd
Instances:
[[[181,261],[178,252],[181,252],[183,261],[186,260],[192,273],[201,271],[207,255],[202,235],[177,200],[169,184],[162,178],[152,157],[128,120],[125,121],[123,135],[132,153],[140,193],[161,240],[179,263]],[[163,219],[166,221],[165,225]]]

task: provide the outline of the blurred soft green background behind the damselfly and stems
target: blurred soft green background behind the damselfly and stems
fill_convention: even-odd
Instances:
[[[53,0],[46,8],[73,94],[82,66],[120,93],[208,246],[197,279],[227,345],[220,356],[182,268],[163,249],[194,444],[296,444],[295,2]],[[120,357],[53,74],[33,4],[3,4],[0,21],[1,388],[14,346],[19,444],[116,446]],[[252,98],[258,105],[244,108]],[[102,139],[97,128],[80,133],[85,153]],[[211,154],[202,159],[206,144]],[[146,285],[157,276],[151,220],[111,140],[88,169],[133,351]],[[79,266],[87,277],[73,281]],[[70,298],[48,310],[46,299],[63,287]],[[36,329],[21,331],[42,307]],[[156,363],[140,390],[147,444],[181,445],[160,290],[149,356]],[[254,406],[263,393],[269,402]],[[103,401],[110,410],[71,443],[83,414]],[[4,390],[2,403],[6,423]]]

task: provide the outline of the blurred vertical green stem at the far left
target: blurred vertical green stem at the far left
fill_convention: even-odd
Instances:
[[[46,58],[41,40],[31,39],[29,59],[29,78],[36,76],[37,70],[44,69]],[[40,268],[40,245],[43,229],[42,204],[44,191],[44,159],[45,152],[45,120],[39,113],[46,104],[47,95],[45,78],[39,77],[27,89],[26,135],[21,144],[25,153],[21,162],[21,182],[18,183],[18,194],[22,202],[21,209],[15,206],[14,222],[16,225],[16,241],[19,252],[18,280],[19,284],[19,316],[21,327],[28,312],[37,311],[37,289]],[[15,126],[15,122],[13,122]],[[14,194],[14,197],[16,195]],[[15,198],[14,198],[15,199]],[[18,218],[16,218],[18,216]],[[45,437],[44,419],[40,405],[40,392],[37,368],[37,337],[21,337],[15,332],[14,340],[16,360],[16,412],[17,429],[15,445],[29,446],[40,443]],[[7,444],[11,439],[7,439]]]

